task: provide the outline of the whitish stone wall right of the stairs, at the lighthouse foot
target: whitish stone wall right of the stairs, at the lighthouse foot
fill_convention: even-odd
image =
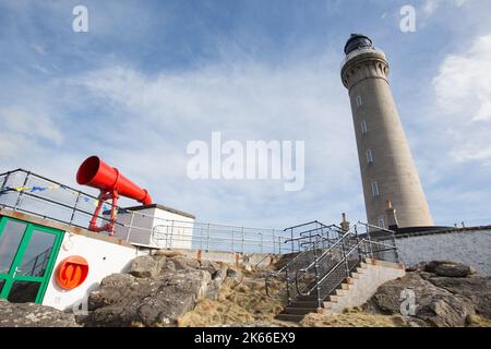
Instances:
[[[429,261],[454,261],[471,265],[480,275],[491,275],[491,227],[397,237],[405,265]]]

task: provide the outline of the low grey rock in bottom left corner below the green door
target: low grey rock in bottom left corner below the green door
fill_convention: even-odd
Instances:
[[[75,316],[35,303],[0,302],[0,327],[80,327]]]

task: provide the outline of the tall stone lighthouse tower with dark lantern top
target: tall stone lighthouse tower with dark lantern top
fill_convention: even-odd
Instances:
[[[386,208],[392,203],[399,228],[433,226],[388,85],[385,55],[370,38],[355,34],[345,53],[342,80],[351,100],[369,224],[388,228]]]

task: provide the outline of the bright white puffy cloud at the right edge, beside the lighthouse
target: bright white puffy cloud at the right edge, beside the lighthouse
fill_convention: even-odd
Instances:
[[[433,87],[441,108],[440,123],[452,142],[457,161],[491,161],[491,34],[478,37],[469,49],[450,55]]]

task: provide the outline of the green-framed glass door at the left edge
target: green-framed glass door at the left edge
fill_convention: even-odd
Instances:
[[[0,298],[41,303],[63,231],[0,219]]]

